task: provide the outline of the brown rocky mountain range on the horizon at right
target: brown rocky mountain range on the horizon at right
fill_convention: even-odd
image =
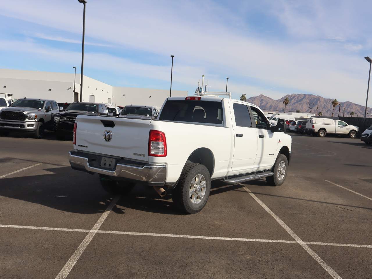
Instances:
[[[312,113],[317,113],[317,111],[322,112],[323,116],[332,115],[333,105],[331,102],[333,99],[326,99],[312,94],[288,94],[278,100],[271,99],[270,97],[261,94],[259,96],[250,97],[247,99],[247,102],[257,105],[265,111],[284,112],[283,100],[286,97],[289,99],[289,104],[286,106],[286,112],[296,112],[297,110],[300,112],[310,112],[311,110]],[[340,105],[341,107],[339,107]],[[364,116],[365,106],[362,105],[352,102],[339,102],[339,105],[334,108],[334,116],[339,115],[339,108],[340,116],[350,117],[350,112],[354,112],[354,117]],[[345,112],[343,113],[344,110]],[[367,114],[367,117],[372,117],[371,108],[367,108],[367,113],[370,113],[370,115]]]

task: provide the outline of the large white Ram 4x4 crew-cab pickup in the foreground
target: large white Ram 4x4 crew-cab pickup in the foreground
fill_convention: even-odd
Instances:
[[[256,120],[254,120],[256,119]],[[109,192],[136,183],[171,190],[183,211],[201,211],[211,180],[230,184],[266,177],[281,185],[292,138],[255,105],[220,97],[169,97],[157,119],[78,115],[71,167],[98,173]],[[165,189],[164,189],[165,188]]]

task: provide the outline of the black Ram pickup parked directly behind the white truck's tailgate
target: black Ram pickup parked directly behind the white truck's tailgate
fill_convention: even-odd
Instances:
[[[54,115],[54,131],[56,137],[62,140],[65,135],[72,135],[76,116],[84,115],[108,115],[109,111],[105,104],[74,102],[65,111]]]

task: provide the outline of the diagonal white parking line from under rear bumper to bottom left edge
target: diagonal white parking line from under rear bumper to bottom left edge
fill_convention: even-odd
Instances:
[[[93,226],[92,230],[89,231],[87,236],[84,238],[84,240],[80,243],[79,247],[77,247],[74,254],[70,257],[70,259],[67,261],[65,266],[61,269],[60,273],[56,276],[55,279],[65,279],[70,273],[71,269],[74,267],[78,259],[80,258],[81,254],[83,254],[85,248],[87,248],[90,241],[93,239],[94,235],[96,234],[97,230],[101,227],[103,221],[105,221],[106,217],[109,215],[112,208],[115,206],[116,202],[118,202],[120,196],[116,196],[112,202],[107,207],[106,211],[103,212],[101,217],[98,219],[96,224]]]

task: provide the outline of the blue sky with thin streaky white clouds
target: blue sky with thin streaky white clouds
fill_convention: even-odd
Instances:
[[[178,3],[179,2],[179,3]],[[309,93],[365,104],[371,1],[88,0],[84,74],[235,98]],[[0,68],[80,72],[77,0],[0,2]],[[372,97],[368,102],[372,106]]]

